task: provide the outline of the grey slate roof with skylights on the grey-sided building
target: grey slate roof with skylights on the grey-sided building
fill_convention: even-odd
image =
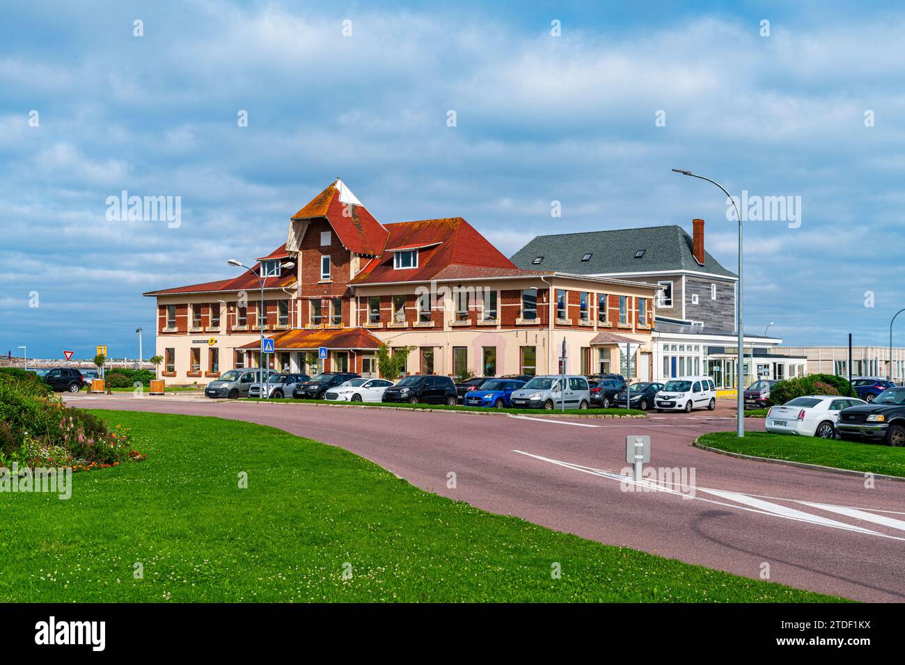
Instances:
[[[706,236],[705,236],[706,243]],[[589,231],[538,235],[512,255],[511,261],[527,270],[548,270],[576,274],[639,271],[698,271],[736,277],[723,268],[707,250],[704,265],[694,260],[691,235],[678,225],[645,226],[637,229]],[[640,259],[635,252],[644,250]],[[590,261],[582,261],[586,253]],[[544,260],[532,263],[538,256]]]

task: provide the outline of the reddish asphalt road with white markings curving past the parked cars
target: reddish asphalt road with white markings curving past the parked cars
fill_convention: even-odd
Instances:
[[[341,446],[444,497],[602,543],[748,577],[768,571],[775,582],[856,600],[905,600],[905,482],[876,480],[866,489],[861,476],[691,447],[703,432],[735,429],[728,408],[551,422],[187,395],[82,394],[66,402],[267,424]],[[762,420],[747,424],[763,429]],[[628,434],[650,435],[649,467],[678,468],[684,478],[626,481]]]

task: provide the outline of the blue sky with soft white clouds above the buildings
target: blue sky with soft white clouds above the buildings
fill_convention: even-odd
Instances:
[[[148,355],[143,291],[233,275],[336,176],[382,222],[462,215],[507,254],[702,217],[734,270],[725,199],[687,168],[801,197],[797,228],[746,224],[749,332],[884,344],[905,307],[894,4],[87,5],[0,23],[0,353],[135,356],[140,326]],[[122,190],[181,196],[181,224],[109,221]]]

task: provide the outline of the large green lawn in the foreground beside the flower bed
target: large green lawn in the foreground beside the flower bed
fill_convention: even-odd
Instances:
[[[492,515],[269,427],[94,413],[150,456],[75,474],[69,500],[0,494],[2,602],[841,600]]]

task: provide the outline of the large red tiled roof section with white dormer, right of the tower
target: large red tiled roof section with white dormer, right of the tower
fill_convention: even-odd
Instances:
[[[393,267],[394,252],[383,252],[379,258],[367,263],[352,284],[432,280],[452,266],[519,271],[512,261],[462,217],[386,224],[386,230],[389,232],[388,247],[424,248],[418,252],[418,267],[396,270]]]

